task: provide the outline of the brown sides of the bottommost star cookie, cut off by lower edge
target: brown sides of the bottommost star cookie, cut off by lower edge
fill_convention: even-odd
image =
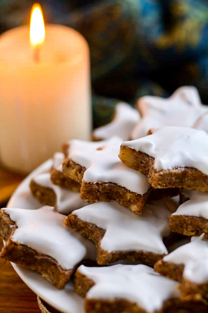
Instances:
[[[80,273],[79,269],[74,276],[75,291],[85,297],[90,288],[95,285],[94,281]],[[154,313],[206,313],[206,305],[201,301],[182,301],[180,299],[170,299],[164,302],[161,310]],[[137,303],[125,299],[85,299],[86,313],[149,313],[139,307]]]

